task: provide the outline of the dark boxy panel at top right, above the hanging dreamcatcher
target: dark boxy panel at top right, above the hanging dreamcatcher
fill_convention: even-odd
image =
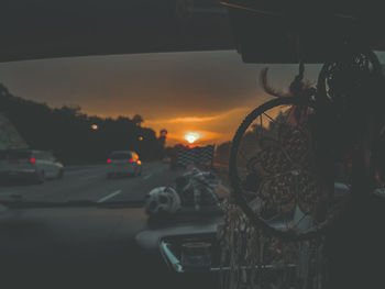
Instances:
[[[336,3],[334,3],[336,2]],[[343,1],[224,0],[244,63],[324,63],[346,43],[385,49],[375,5]]]

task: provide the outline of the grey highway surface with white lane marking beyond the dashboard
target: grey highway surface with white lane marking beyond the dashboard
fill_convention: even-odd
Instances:
[[[63,179],[42,185],[8,184],[0,187],[0,200],[21,198],[23,201],[64,202],[88,200],[96,202],[141,201],[153,188],[173,185],[179,171],[167,164],[143,164],[139,177],[107,178],[107,165],[67,167]]]

